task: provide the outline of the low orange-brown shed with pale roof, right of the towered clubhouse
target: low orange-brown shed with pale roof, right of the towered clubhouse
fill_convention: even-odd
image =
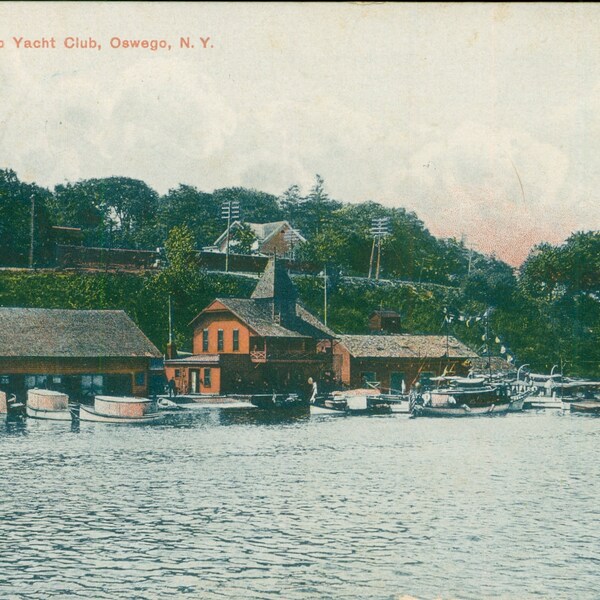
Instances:
[[[369,384],[408,391],[443,373],[467,375],[477,354],[445,335],[340,335],[334,345],[336,379],[347,387]]]

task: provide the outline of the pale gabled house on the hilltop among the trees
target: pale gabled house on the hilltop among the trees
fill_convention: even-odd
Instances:
[[[247,225],[256,236],[252,245],[252,252],[258,254],[275,254],[283,256],[292,249],[292,246],[304,243],[306,239],[294,229],[287,221],[275,221],[273,223],[242,223],[234,221],[231,224],[231,233],[234,235],[236,230]],[[291,239],[290,239],[291,238]],[[230,240],[230,250],[235,251],[235,241]],[[227,249],[227,230],[225,230],[216,240],[213,246],[205,248],[218,252],[225,252]]]

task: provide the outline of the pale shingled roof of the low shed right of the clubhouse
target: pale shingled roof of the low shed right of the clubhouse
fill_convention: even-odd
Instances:
[[[446,356],[445,335],[341,335],[340,342],[357,358],[439,358]],[[467,358],[475,352],[454,337],[448,338],[448,356]]]

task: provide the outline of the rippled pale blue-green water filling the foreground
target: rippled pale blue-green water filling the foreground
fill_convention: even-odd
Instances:
[[[598,598],[600,419],[0,429],[0,597]]]

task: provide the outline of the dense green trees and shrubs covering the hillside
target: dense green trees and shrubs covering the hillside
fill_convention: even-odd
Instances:
[[[299,258],[328,266],[330,324],[338,332],[366,332],[370,311],[386,307],[402,314],[408,332],[448,332],[483,351],[489,340],[482,340],[480,323],[447,323],[444,314],[490,309],[494,338],[501,340],[493,349],[508,349],[505,355],[510,351],[515,360],[535,368],[550,370],[558,364],[568,374],[600,377],[598,231],[574,233],[559,245],[540,244],[515,270],[471,251],[460,240],[434,237],[417,215],[403,208],[332,199],[319,176],[306,193],[295,185],[279,196],[245,188],[207,193],[180,185],[160,196],[144,182],[123,177],[49,190],[19,181],[13,171],[0,171],[0,262],[27,264],[32,202],[40,263],[52,225],[81,227],[85,245],[165,247],[169,256],[167,268],[154,275],[81,276],[72,288],[65,285],[72,281],[65,276],[6,275],[0,279],[0,303],[124,307],[160,347],[166,341],[165,299],[171,295],[178,315],[176,333],[185,346],[187,323],[212,294],[251,291],[251,282],[208,277],[189,260],[190,252],[212,244],[224,231],[221,206],[229,200],[240,203],[246,222],[288,220],[303,234],[307,242],[299,248]],[[390,282],[348,279],[367,274],[372,220],[382,217],[389,220],[389,235],[382,240],[381,274]],[[250,241],[246,238],[238,249],[249,251]],[[305,304],[322,315],[323,279],[307,276],[297,284]]]

